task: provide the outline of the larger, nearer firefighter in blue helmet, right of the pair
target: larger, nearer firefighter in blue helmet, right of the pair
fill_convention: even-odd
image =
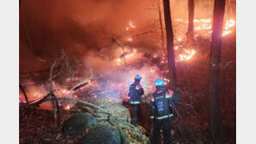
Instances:
[[[163,128],[163,143],[170,144],[170,128],[172,113],[172,101],[179,101],[179,95],[164,87],[164,81],[157,78],[156,92],[150,101],[150,118],[153,119],[152,144],[159,142],[160,129]]]

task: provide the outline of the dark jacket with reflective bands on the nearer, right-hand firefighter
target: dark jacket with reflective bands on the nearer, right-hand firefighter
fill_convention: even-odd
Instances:
[[[158,120],[173,116],[171,101],[179,101],[179,96],[174,97],[174,92],[164,86],[157,86],[157,91],[151,97],[150,118]]]

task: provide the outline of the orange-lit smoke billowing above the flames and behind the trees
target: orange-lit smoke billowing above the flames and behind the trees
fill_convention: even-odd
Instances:
[[[156,3],[157,0],[23,0],[20,73],[48,69],[61,49],[68,57],[80,61],[80,72],[85,76],[89,75],[89,67],[96,73],[114,69],[123,52],[113,44],[112,35],[120,37],[118,41],[125,46],[125,52],[138,50],[136,59],[127,59],[128,63],[145,60],[146,54],[162,51],[159,25],[152,25],[158,20]],[[195,0],[195,17],[212,16],[213,4],[213,0]],[[187,0],[171,0],[170,9],[173,19],[188,19]],[[126,32],[130,21],[136,28]],[[175,34],[185,34],[186,27],[174,26]],[[126,41],[127,36],[133,41]],[[120,65],[125,69],[123,61]]]

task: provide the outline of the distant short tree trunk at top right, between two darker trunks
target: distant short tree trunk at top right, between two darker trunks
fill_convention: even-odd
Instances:
[[[194,41],[194,0],[189,0],[189,29],[187,32],[187,43],[190,44]]]

